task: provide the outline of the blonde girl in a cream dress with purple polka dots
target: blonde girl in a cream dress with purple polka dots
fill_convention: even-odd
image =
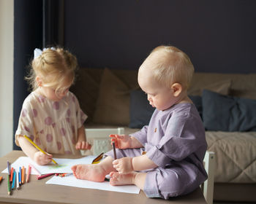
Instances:
[[[69,91],[76,68],[77,59],[67,50],[34,50],[31,71],[26,77],[32,92],[23,102],[15,143],[39,165],[51,162],[52,154],[80,154],[80,149],[91,149],[83,127],[87,116]]]

